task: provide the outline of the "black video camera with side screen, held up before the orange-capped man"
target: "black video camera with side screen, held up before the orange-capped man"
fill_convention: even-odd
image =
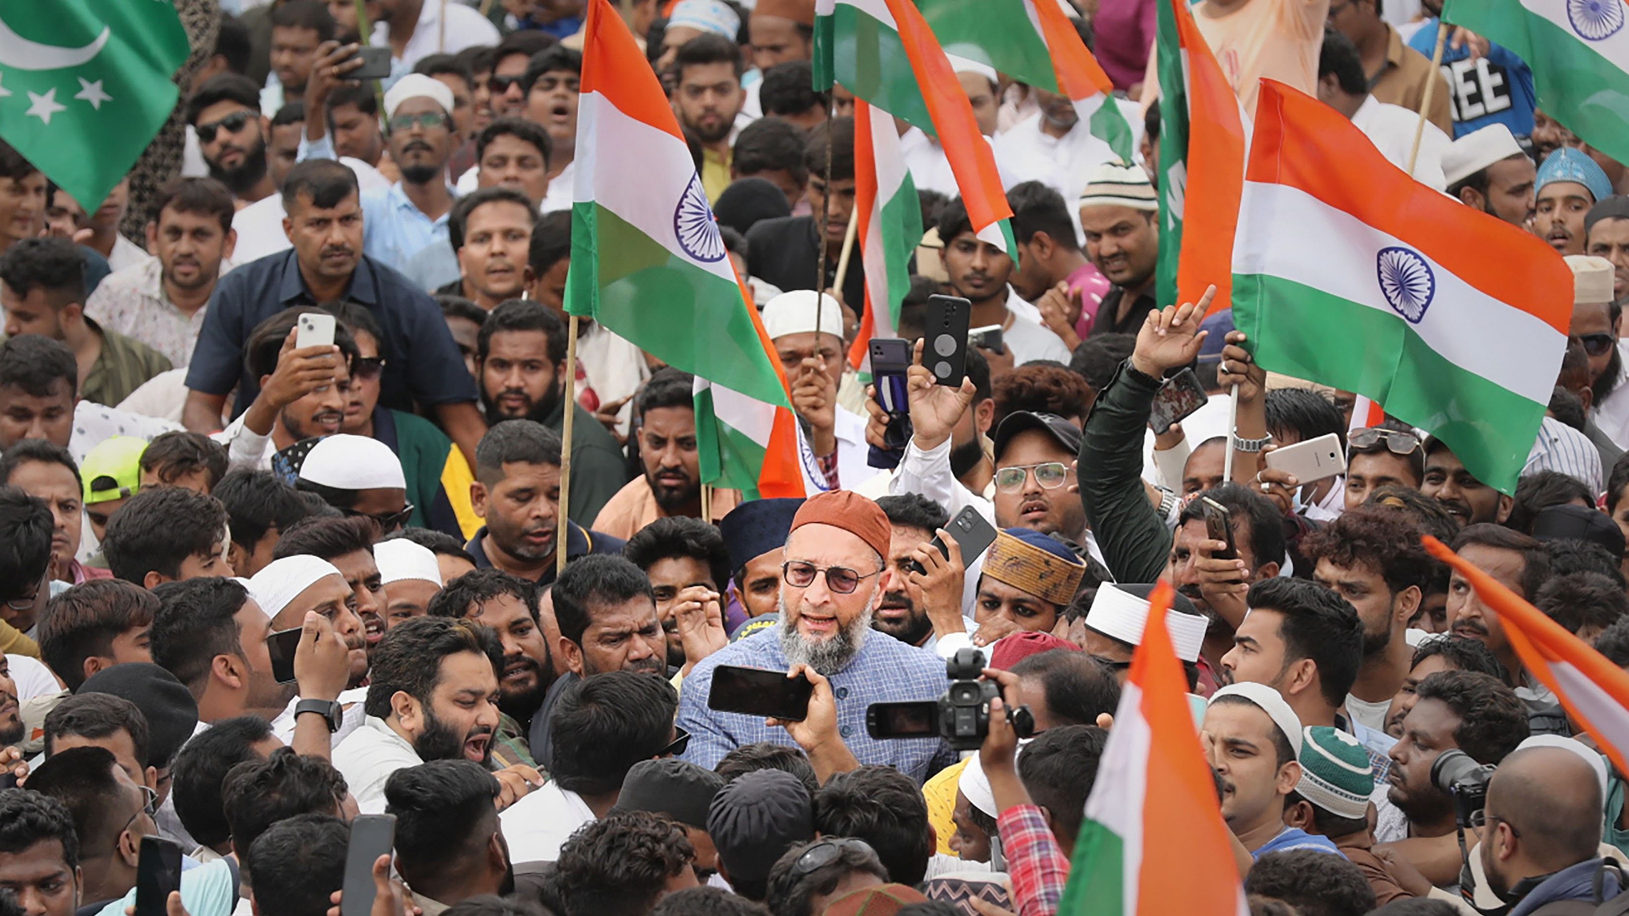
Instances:
[[[994,681],[981,678],[984,655],[958,649],[945,660],[950,689],[938,699],[873,702],[865,707],[865,730],[873,738],[942,737],[958,751],[979,750],[990,733],[990,701],[1000,696]],[[1034,735],[1034,714],[1028,706],[1007,711],[1020,738]]]

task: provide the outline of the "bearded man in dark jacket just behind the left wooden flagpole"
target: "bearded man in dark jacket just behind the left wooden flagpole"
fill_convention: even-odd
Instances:
[[[547,306],[510,300],[492,310],[477,337],[476,367],[487,422],[536,421],[554,432],[565,424],[565,323]],[[616,438],[582,404],[572,404],[572,505],[586,525],[627,481]]]

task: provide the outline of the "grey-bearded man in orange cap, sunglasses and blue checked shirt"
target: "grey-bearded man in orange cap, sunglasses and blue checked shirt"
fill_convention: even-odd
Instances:
[[[948,686],[937,655],[872,631],[891,535],[883,510],[850,491],[813,495],[798,509],[780,567],[779,626],[709,655],[684,680],[678,719],[691,733],[684,760],[712,769],[741,745],[797,743],[811,758],[852,753],[862,764],[893,766],[917,781],[956,760],[938,738],[873,740],[865,730],[867,706],[933,699]],[[754,716],[709,709],[718,665],[780,672],[803,665],[813,672],[811,709],[836,706],[836,720],[823,724],[824,717],[810,716],[780,729]]]

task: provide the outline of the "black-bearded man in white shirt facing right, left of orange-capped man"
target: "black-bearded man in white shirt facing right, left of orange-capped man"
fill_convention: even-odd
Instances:
[[[384,634],[368,683],[367,719],[334,748],[334,768],[363,812],[384,804],[397,769],[430,760],[471,760],[492,768],[503,650],[492,629],[468,619],[414,618]],[[494,773],[502,805],[542,784],[512,764]]]

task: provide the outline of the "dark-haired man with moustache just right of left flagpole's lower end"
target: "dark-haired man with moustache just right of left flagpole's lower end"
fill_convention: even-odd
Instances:
[[[531,750],[549,766],[554,738],[551,717],[572,685],[606,672],[640,672],[668,678],[668,645],[656,618],[650,579],[619,556],[583,557],[565,567],[549,590],[560,628],[554,652],[567,673],[554,681],[542,707],[531,717]]]

